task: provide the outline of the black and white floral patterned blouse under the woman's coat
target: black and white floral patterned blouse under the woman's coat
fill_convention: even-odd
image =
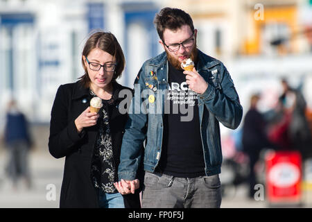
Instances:
[[[92,96],[96,96],[94,92],[90,91]],[[107,114],[107,107],[103,101],[103,107],[99,112],[100,118],[98,119],[99,133],[94,147],[94,155],[92,158],[91,177],[94,187],[102,189],[105,193],[116,193],[114,187],[115,168],[113,166],[113,151],[112,151],[112,135],[110,133],[110,123]]]

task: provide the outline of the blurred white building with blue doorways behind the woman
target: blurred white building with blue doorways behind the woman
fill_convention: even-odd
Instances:
[[[58,86],[83,75],[81,52],[96,30],[116,35],[126,57],[122,84],[159,53],[153,1],[0,0],[0,104],[11,96],[31,121],[48,123]],[[0,114],[3,126],[3,113]]]

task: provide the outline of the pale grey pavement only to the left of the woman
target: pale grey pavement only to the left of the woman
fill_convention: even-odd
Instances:
[[[19,181],[12,187],[4,173],[7,153],[0,153],[0,207],[1,208],[57,208],[60,202],[60,188],[64,168],[64,158],[55,159],[49,153],[31,152],[29,164],[33,186],[28,189]]]

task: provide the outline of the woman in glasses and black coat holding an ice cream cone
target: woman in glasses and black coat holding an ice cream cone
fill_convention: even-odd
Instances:
[[[123,51],[112,33],[97,32],[83,49],[85,74],[61,85],[51,111],[49,151],[66,157],[60,207],[139,207],[139,194],[121,196],[114,187],[127,114],[119,112],[116,83],[125,67]],[[90,112],[98,96],[103,106]]]

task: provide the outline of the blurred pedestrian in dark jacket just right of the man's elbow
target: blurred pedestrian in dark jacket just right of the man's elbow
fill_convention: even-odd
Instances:
[[[259,161],[259,155],[263,148],[268,148],[270,142],[266,136],[266,121],[257,109],[260,95],[252,94],[250,97],[250,109],[245,114],[243,123],[242,144],[243,151],[249,157],[249,196],[254,198],[254,185],[257,185],[257,173],[255,165]]]

